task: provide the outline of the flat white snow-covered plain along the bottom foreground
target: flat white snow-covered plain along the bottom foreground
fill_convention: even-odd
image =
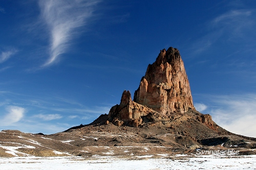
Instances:
[[[256,155],[123,159],[104,156],[0,158],[0,169],[256,169]]]

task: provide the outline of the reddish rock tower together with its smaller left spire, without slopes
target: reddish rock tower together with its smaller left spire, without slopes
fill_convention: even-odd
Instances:
[[[120,104],[111,108],[108,121],[116,126],[138,127],[149,119],[157,122],[153,115],[161,115],[166,120],[189,109],[195,110],[195,107],[184,64],[179,51],[169,47],[167,51],[161,50],[157,60],[148,65],[134,93],[134,101],[130,91],[124,90]]]

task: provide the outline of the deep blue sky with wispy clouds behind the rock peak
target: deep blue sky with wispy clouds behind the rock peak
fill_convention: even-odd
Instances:
[[[178,48],[194,105],[256,137],[255,1],[0,0],[0,129],[89,124]]]

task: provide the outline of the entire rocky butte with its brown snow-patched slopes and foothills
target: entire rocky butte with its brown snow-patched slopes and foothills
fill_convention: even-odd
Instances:
[[[88,159],[111,152],[112,156],[137,159],[143,154],[195,155],[198,148],[256,153],[256,138],[233,134],[209,114],[195,110],[179,51],[172,47],[162,50],[156,62],[148,65],[134,101],[130,91],[124,90],[120,104],[91,124],[52,135],[0,132],[0,157],[74,155]]]

